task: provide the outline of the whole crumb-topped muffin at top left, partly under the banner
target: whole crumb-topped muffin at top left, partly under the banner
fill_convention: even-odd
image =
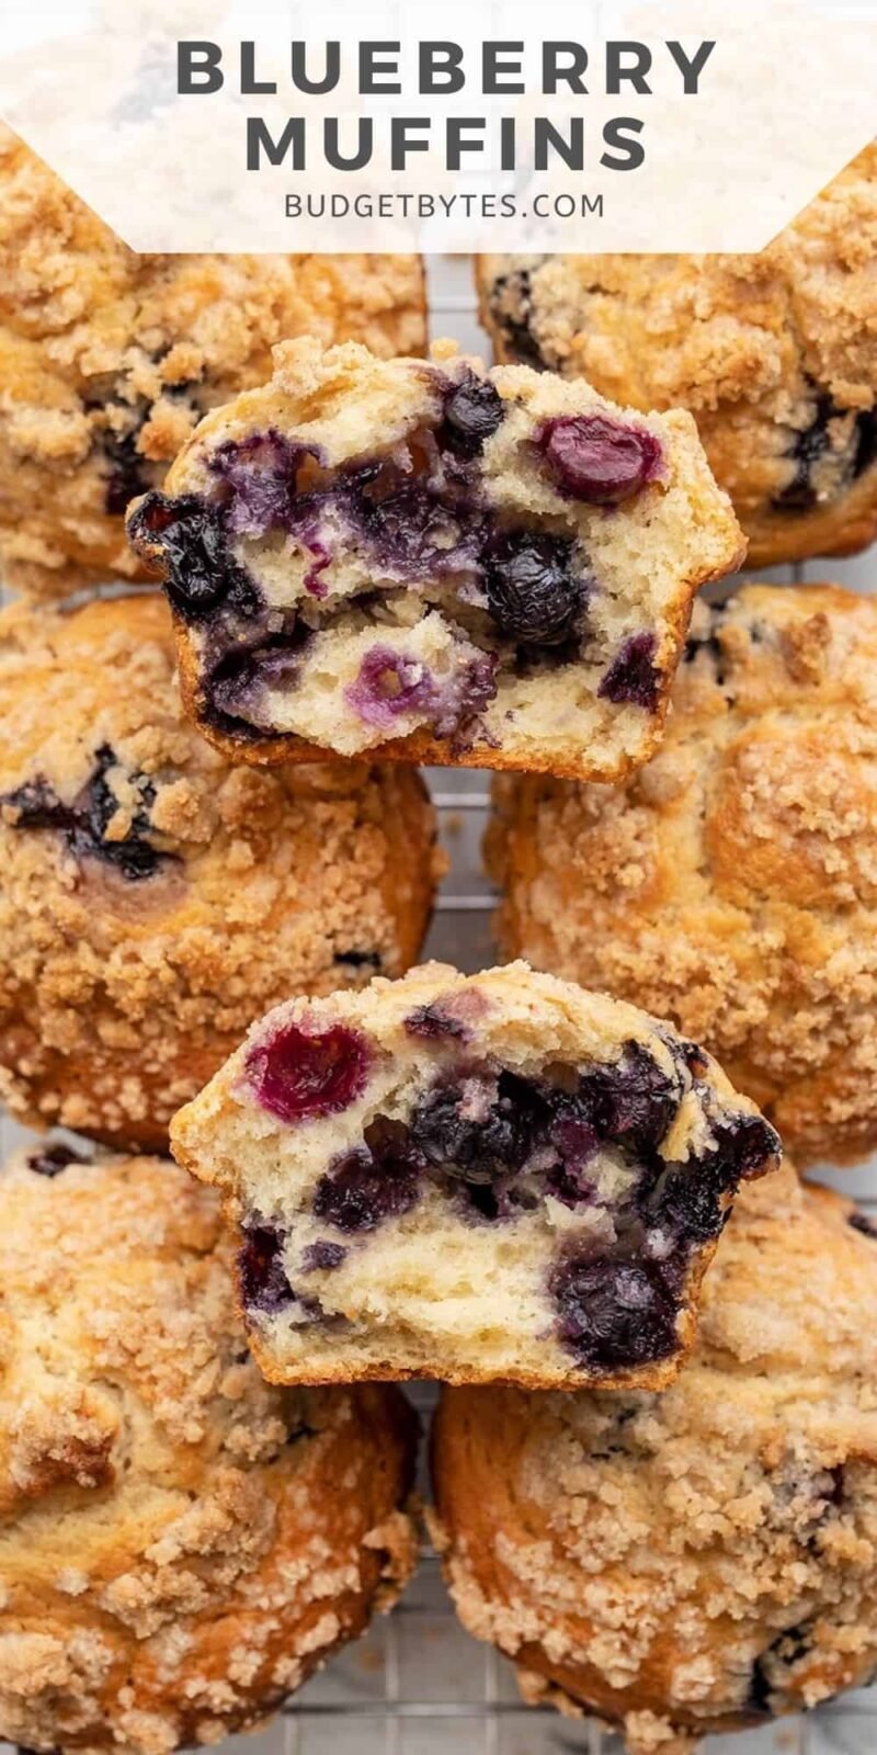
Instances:
[[[0,186],[0,565],[33,595],[142,574],[128,500],[274,342],[426,346],[416,256],[137,254],[7,130]]]

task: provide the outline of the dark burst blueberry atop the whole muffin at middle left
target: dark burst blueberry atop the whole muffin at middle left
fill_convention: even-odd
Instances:
[[[95,755],[91,779],[74,804],[63,804],[46,779],[26,781],[16,792],[5,793],[0,800],[18,811],[14,828],[56,828],[65,834],[67,844],[77,858],[98,858],[114,865],[130,883],[153,878],[156,870],[177,858],[175,853],[161,853],[146,839],[149,830],[149,806],[154,800],[153,781],[144,774],[130,776],[140,795],[128,834],[121,841],[107,841],[107,828],[119,809],[107,774],[118,767],[116,753],[109,744],[102,744]]]

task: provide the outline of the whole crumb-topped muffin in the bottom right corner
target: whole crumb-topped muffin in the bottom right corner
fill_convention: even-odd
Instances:
[[[786,1171],[742,1192],[672,1388],[446,1393],[435,1537],[524,1699],[686,1755],[872,1680],[875,1237]]]

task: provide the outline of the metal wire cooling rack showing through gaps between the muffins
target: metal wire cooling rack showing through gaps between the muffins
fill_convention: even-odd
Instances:
[[[467,258],[430,265],[431,330],[484,353]],[[777,583],[831,577],[861,591],[875,588],[873,551],[856,562],[816,562],[766,574]],[[496,953],[491,937],[495,897],[481,860],[489,807],[489,776],[433,769],[428,776],[438,811],[449,872],[442,883],[426,955],[475,971]],[[0,1118],[5,1150],[28,1135]],[[877,1158],[837,1181],[877,1213]],[[410,1392],[424,1427],[435,1388]],[[426,1492],[421,1471],[421,1486]],[[0,1751],[7,1755],[7,1744]],[[514,1669],[496,1651],[470,1639],[454,1616],[435,1555],[426,1550],[417,1574],[391,1616],[314,1676],[267,1730],[230,1737],[221,1755],[623,1755],[617,1737],[593,1722],[533,1711],[519,1701]],[[877,1755],[877,1690],[844,1695],[807,1718],[763,1730],[707,1737],[703,1755]]]

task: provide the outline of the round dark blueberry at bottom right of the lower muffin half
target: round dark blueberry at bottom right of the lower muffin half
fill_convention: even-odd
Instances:
[[[649,1262],[565,1257],[551,1274],[558,1334],[593,1372],[668,1358],[679,1346],[679,1304]]]

